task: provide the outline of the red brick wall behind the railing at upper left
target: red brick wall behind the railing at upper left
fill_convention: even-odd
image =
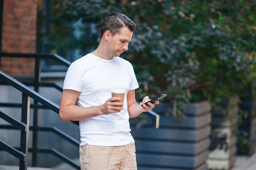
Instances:
[[[37,0],[4,0],[2,52],[36,52]],[[32,75],[34,59],[1,58],[1,71],[10,75]]]

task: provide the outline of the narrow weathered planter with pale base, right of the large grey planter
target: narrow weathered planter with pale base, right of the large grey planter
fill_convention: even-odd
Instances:
[[[238,97],[230,97],[212,109],[211,150],[207,160],[210,170],[229,170],[236,161],[236,137],[233,132],[238,122]],[[224,111],[224,113],[223,113]]]

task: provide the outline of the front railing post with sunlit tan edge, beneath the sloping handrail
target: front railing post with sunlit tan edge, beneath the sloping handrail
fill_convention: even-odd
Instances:
[[[20,131],[20,152],[25,154],[20,160],[20,170],[27,170],[27,154],[29,148],[29,106],[30,97],[22,93],[21,122],[26,124],[25,131]]]

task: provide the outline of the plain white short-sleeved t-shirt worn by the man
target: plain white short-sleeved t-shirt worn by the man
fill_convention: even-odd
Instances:
[[[76,105],[99,106],[111,98],[112,88],[126,91],[124,110],[79,121],[81,145],[122,146],[134,142],[130,134],[127,93],[139,87],[130,62],[121,57],[101,59],[91,53],[68,68],[63,89],[81,92]]]

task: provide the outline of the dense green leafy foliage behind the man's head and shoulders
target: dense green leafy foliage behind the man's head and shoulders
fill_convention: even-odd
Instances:
[[[255,79],[255,0],[53,1],[52,37],[57,51],[99,42],[100,22],[114,12],[137,24],[129,50],[140,88],[138,99],[166,93],[177,108],[209,99],[249,94]],[[83,34],[71,38],[76,26]],[[93,26],[93,27],[92,27]],[[250,97],[251,97],[250,96]]]

